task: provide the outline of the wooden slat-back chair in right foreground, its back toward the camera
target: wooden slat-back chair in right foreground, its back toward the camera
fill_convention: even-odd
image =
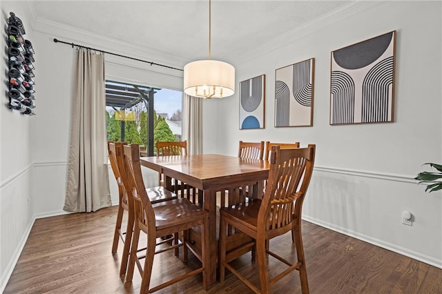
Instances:
[[[301,234],[302,202],[313,172],[316,146],[307,148],[271,149],[270,170],[265,195],[262,199],[251,199],[243,204],[220,209],[220,282],[224,281],[225,268],[236,275],[256,293],[270,293],[270,286],[294,270],[300,274],[302,293],[309,293],[307,270]],[[253,238],[251,244],[244,244],[226,252],[230,236],[227,226],[235,226]],[[289,262],[269,250],[267,240],[294,229],[296,233],[297,262]],[[256,257],[260,275],[260,288],[253,285],[229,264],[233,259],[247,253],[256,246]],[[267,255],[271,255],[289,266],[285,271],[269,279]]]

